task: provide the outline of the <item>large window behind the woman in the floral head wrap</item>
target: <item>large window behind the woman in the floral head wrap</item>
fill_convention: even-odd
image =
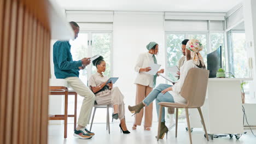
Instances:
[[[173,65],[178,65],[179,59],[182,54],[182,41],[184,39],[198,39],[201,41],[204,49],[201,51],[201,55],[205,64],[207,65],[207,54],[216,50],[219,46],[222,46],[222,60],[223,68],[225,69],[225,47],[224,47],[224,32],[215,33],[166,33],[166,75],[172,80],[177,80],[171,73],[168,73],[168,69]],[[210,45],[210,48],[208,47]]]

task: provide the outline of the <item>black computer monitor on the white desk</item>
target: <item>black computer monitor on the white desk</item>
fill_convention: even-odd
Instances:
[[[222,46],[219,46],[216,51],[207,54],[207,69],[210,70],[209,77],[216,77],[219,68],[222,68]]]

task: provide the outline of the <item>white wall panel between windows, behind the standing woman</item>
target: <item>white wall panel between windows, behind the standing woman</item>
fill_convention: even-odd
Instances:
[[[125,96],[126,121],[133,122],[128,105],[135,105],[136,78],[134,70],[139,53],[147,52],[150,41],[159,44],[158,63],[164,68],[164,17],[163,13],[115,12],[113,22],[113,76],[120,77],[116,86]],[[158,77],[158,83],[165,81]],[[156,119],[154,103],[153,121]]]

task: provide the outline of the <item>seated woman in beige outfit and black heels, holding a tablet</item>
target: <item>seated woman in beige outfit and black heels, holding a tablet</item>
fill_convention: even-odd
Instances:
[[[112,104],[114,113],[112,114],[112,121],[114,119],[120,119],[119,127],[124,134],[129,134],[125,124],[125,107],[124,107],[124,95],[120,92],[118,87],[113,87],[113,83],[107,83],[108,77],[102,75],[106,70],[106,62],[103,57],[100,56],[92,61],[97,68],[97,73],[91,75],[89,79],[89,87],[95,94],[95,101],[98,105]]]

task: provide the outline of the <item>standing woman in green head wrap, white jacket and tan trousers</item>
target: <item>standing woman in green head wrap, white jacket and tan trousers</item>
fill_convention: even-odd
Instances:
[[[158,44],[155,42],[150,42],[147,46],[147,52],[139,55],[137,63],[135,65],[135,71],[138,73],[135,84],[137,86],[136,91],[136,104],[141,103],[141,101],[147,97],[147,95],[152,91],[155,87],[156,76],[157,75],[149,75],[145,72],[151,70],[149,64],[157,63],[155,55],[158,54]],[[158,73],[164,73],[164,69],[158,71]],[[153,105],[148,105],[145,107],[145,121],[144,121],[144,130],[150,130],[152,126],[152,111]],[[142,117],[143,117],[144,109],[135,115],[135,122],[133,124],[132,129],[135,130],[137,125],[141,125]]]

